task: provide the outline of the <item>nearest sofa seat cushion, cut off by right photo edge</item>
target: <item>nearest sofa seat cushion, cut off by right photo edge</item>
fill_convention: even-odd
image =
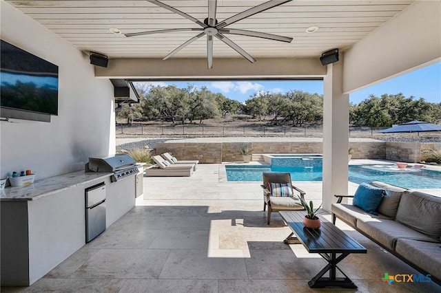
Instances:
[[[395,250],[411,263],[441,279],[441,243],[398,239]]]

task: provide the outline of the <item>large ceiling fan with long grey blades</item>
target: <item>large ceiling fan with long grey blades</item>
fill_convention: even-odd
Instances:
[[[170,52],[167,56],[163,58],[163,60],[166,60],[170,57],[172,57],[174,54],[182,50],[185,46],[189,45],[193,41],[196,41],[197,39],[201,38],[204,35],[207,35],[207,61],[208,61],[208,69],[211,69],[213,67],[213,37],[215,36],[220,41],[223,41],[223,43],[229,45],[229,47],[232,47],[233,50],[238,52],[240,55],[244,56],[248,59],[249,62],[254,63],[256,59],[254,59],[251,55],[249,55],[245,50],[243,50],[241,47],[236,45],[232,40],[228,39],[225,34],[240,34],[243,36],[255,36],[257,38],[263,38],[263,39],[270,39],[274,41],[282,41],[286,43],[291,43],[292,38],[289,38],[287,36],[278,36],[277,34],[267,34],[265,32],[254,32],[252,30],[237,30],[237,29],[229,29],[225,28],[227,25],[231,25],[232,23],[236,23],[237,21],[240,21],[242,19],[245,19],[247,17],[251,17],[254,14],[263,12],[265,10],[268,10],[270,8],[280,6],[283,3],[287,3],[292,0],[271,0],[267,1],[265,3],[262,3],[258,6],[254,6],[253,8],[249,8],[248,10],[245,10],[243,12],[240,12],[232,17],[229,17],[228,19],[225,19],[224,21],[221,21],[218,23],[218,20],[216,19],[216,7],[217,7],[217,0],[208,0],[208,17],[204,19],[204,21],[199,21],[198,19],[195,19],[194,17],[190,16],[189,14],[186,14],[185,12],[182,12],[181,10],[177,10],[176,8],[173,8],[172,6],[167,6],[166,4],[156,1],[156,0],[147,0],[150,3],[154,3],[157,6],[161,6],[162,8],[165,8],[167,10],[170,10],[176,14],[181,15],[182,17],[185,17],[186,19],[189,19],[190,21],[193,21],[197,25],[200,25],[201,28],[173,28],[169,30],[153,30],[149,32],[134,32],[130,34],[125,34],[125,36],[143,36],[145,34],[158,34],[162,32],[200,32],[196,36],[192,37],[192,39],[189,39],[179,47],[177,47],[175,50]]]

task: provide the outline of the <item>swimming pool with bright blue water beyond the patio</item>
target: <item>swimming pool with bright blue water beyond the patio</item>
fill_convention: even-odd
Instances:
[[[375,165],[374,165],[375,166]],[[407,168],[396,171],[373,165],[349,166],[349,181],[381,181],[404,188],[441,188],[441,172]],[[305,168],[300,166],[225,166],[227,181],[262,181],[263,172],[289,172],[293,181],[322,181],[322,167]]]

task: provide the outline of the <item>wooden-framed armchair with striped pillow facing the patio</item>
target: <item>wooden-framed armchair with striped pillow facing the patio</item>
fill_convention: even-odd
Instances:
[[[305,191],[293,186],[290,173],[263,173],[263,210],[268,206],[268,225],[271,213],[280,210],[305,210],[300,204],[301,197],[305,200]],[[299,193],[296,195],[294,190]]]

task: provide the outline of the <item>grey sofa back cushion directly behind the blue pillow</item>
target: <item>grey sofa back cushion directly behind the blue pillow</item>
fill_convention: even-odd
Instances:
[[[407,191],[407,189],[379,181],[373,181],[371,182],[371,185],[383,188],[384,191],[386,191],[386,194],[377,208],[377,212],[387,217],[395,218],[398,204],[400,204],[401,195],[404,191]]]

